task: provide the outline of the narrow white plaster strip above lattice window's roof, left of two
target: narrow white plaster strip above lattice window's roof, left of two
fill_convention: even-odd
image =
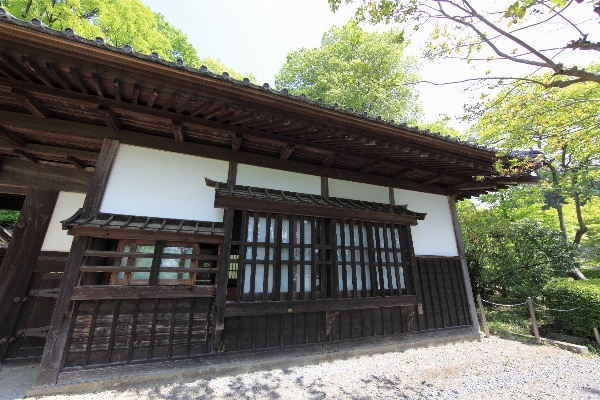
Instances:
[[[307,194],[321,194],[318,176],[239,164],[236,184]]]

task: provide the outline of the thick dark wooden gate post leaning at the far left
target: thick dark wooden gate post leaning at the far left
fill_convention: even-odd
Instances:
[[[0,266],[0,362],[12,337],[22,299],[27,296],[35,264],[52,218],[58,191],[30,189],[27,192],[10,246]]]

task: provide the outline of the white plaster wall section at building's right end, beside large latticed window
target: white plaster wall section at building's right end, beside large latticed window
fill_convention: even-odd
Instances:
[[[450,205],[446,196],[394,189],[396,204],[410,211],[427,213],[424,221],[411,226],[415,255],[458,256]]]

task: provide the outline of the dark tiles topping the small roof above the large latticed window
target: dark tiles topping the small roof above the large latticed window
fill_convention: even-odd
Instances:
[[[385,203],[374,203],[371,201],[360,201],[342,199],[338,197],[325,197],[314,194],[288,192],[284,190],[272,190],[251,186],[228,186],[224,182],[215,182],[205,179],[206,185],[215,188],[216,197],[236,197],[241,199],[266,200],[278,203],[289,203],[315,207],[327,207],[332,209],[345,209],[355,211],[370,211],[376,213],[393,214],[398,216],[413,217],[418,220],[425,219],[426,213],[409,211],[404,206],[391,206]],[[351,215],[351,214],[348,214]]]

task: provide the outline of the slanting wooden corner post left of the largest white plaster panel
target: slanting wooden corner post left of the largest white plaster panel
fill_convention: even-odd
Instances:
[[[94,175],[83,203],[82,217],[93,217],[100,211],[104,191],[118,149],[119,142],[117,140],[104,139]],[[88,247],[89,241],[89,237],[75,236],[73,238],[34,387],[54,386],[58,380],[58,374],[66,355],[67,336],[73,317],[71,295],[77,284],[79,267],[83,261],[83,252]]]

